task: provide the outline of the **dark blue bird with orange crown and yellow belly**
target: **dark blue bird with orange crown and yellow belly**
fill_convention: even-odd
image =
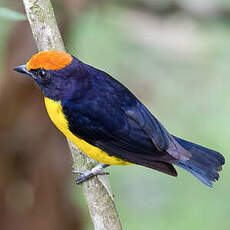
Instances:
[[[109,165],[138,164],[177,176],[179,166],[212,186],[224,157],[170,134],[124,85],[107,73],[61,51],[42,51],[15,71],[31,77],[44,94],[57,128],[100,162],[76,183]]]

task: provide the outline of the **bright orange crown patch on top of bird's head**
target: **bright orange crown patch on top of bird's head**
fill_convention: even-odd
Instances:
[[[56,50],[42,51],[27,62],[27,70],[40,69],[59,70],[72,62],[72,56],[68,53]]]

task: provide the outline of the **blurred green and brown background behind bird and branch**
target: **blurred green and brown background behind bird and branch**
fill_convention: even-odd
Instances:
[[[70,53],[124,83],[174,135],[226,157],[212,189],[180,169],[178,178],[108,169],[124,229],[229,230],[230,2],[53,5]],[[22,1],[0,7],[24,12]],[[12,71],[36,53],[28,22],[17,19],[0,8],[0,229],[92,229],[65,138],[38,88]]]

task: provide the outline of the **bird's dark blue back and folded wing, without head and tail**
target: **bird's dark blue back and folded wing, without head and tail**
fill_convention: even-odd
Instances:
[[[101,71],[93,74],[83,98],[63,102],[71,132],[109,155],[176,175],[170,163],[190,153],[126,87]]]

